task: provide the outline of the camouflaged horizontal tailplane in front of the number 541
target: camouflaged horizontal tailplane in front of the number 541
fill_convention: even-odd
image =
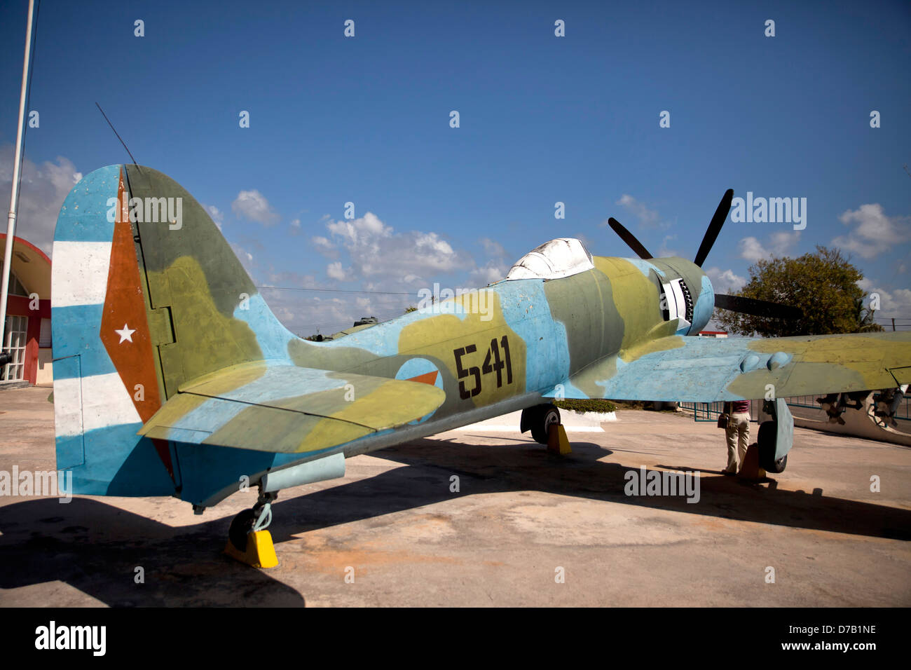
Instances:
[[[425,417],[441,388],[269,362],[179,387],[138,434],[271,452],[318,451]]]

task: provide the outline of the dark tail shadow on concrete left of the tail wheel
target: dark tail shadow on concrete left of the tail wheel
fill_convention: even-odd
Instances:
[[[269,572],[220,553],[229,523],[222,518],[173,528],[89,498],[5,505],[0,588],[58,580],[118,607],[303,606],[302,595]],[[135,582],[137,567],[144,583]]]

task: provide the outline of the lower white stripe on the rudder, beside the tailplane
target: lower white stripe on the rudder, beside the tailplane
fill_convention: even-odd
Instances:
[[[61,437],[78,435],[83,430],[142,423],[132,397],[116,372],[82,379],[55,379],[54,417],[56,434]]]

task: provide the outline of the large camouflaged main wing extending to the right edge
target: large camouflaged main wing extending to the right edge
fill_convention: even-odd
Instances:
[[[911,332],[800,337],[671,335],[602,358],[546,394],[712,402],[911,383]],[[771,387],[770,387],[771,385]]]

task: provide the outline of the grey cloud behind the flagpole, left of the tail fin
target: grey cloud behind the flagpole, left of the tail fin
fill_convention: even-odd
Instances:
[[[13,185],[14,148],[0,147],[0,210],[9,211],[9,194]],[[82,172],[63,156],[36,165],[22,161],[22,181],[15,234],[50,255],[56,219],[67,193],[82,179]],[[6,218],[4,217],[4,221]],[[3,227],[6,232],[6,227]],[[2,262],[0,262],[2,264]]]

